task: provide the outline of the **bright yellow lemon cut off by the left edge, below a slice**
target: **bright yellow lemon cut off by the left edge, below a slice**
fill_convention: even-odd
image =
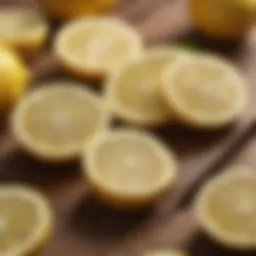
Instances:
[[[0,111],[12,107],[30,81],[26,65],[11,49],[0,46]]]

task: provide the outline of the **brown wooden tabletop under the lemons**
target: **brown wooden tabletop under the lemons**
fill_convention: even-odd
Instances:
[[[0,0],[0,4],[38,8],[33,0]],[[194,196],[208,178],[226,166],[256,166],[256,32],[251,31],[239,43],[209,42],[194,32],[186,0],[123,0],[114,14],[131,22],[150,44],[185,42],[225,55],[248,78],[251,104],[237,124],[222,131],[195,132],[174,124],[152,131],[177,152],[180,176],[154,209],[136,214],[113,211],[95,201],[82,179],[79,163],[53,167],[26,155],[11,138],[7,121],[3,120],[0,182],[38,187],[54,207],[55,234],[43,255],[140,256],[144,250],[162,247],[187,249],[195,256],[256,255],[221,248],[201,233],[193,217]],[[31,61],[32,86],[68,77],[51,52],[51,40],[48,45]]]

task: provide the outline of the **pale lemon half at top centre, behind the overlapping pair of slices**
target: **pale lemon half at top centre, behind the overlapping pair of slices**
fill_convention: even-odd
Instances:
[[[140,56],[142,40],[121,20],[84,18],[60,30],[55,51],[72,74],[100,80],[126,61]]]

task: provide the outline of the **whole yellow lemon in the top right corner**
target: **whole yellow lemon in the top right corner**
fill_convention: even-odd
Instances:
[[[237,39],[255,20],[252,0],[189,0],[191,18],[206,36],[216,39]]]

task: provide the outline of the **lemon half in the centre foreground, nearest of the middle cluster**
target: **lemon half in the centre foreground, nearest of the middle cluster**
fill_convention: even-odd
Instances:
[[[155,137],[134,130],[95,136],[86,147],[83,166],[95,194],[124,209],[151,205],[177,175],[173,153]]]

